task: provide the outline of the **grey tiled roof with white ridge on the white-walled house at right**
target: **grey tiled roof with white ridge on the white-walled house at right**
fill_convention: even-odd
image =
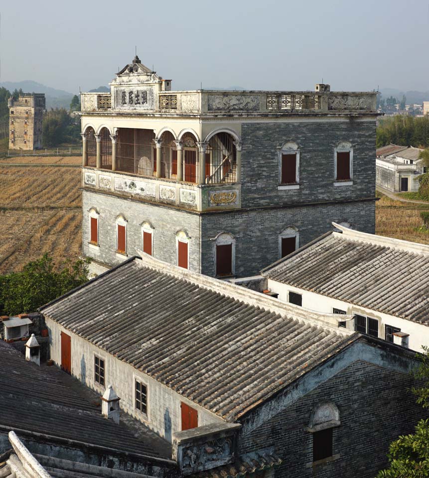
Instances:
[[[429,246],[334,226],[261,273],[429,326]]]

